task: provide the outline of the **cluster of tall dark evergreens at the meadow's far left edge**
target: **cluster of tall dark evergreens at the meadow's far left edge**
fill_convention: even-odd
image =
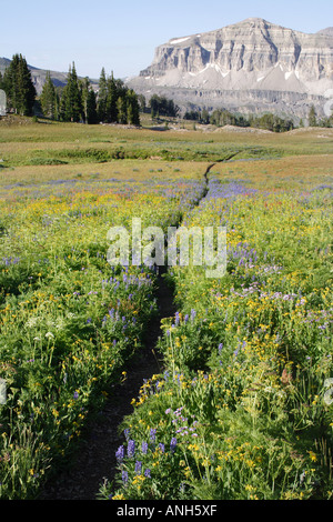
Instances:
[[[89,78],[79,79],[75,64],[69,68],[64,87],[56,87],[50,72],[40,97],[32,82],[26,59],[14,54],[3,77],[0,89],[7,94],[7,109],[20,116],[42,112],[46,118],[58,121],[84,123],[140,124],[140,104],[137,93],[113,74],[101,71],[98,92]]]

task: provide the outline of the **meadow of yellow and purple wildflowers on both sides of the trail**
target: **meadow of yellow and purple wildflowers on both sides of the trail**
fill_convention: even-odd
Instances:
[[[132,218],[226,227],[226,273],[165,274],[162,371],[132,398],[97,499],[332,498],[332,143],[0,127],[1,499],[38,498],[142,349],[158,270],[107,260]]]

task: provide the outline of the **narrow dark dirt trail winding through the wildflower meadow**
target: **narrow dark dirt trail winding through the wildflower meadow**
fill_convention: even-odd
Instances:
[[[205,188],[196,204],[209,190],[209,173],[220,162],[234,158],[236,153],[211,163],[204,172]],[[80,442],[71,466],[50,479],[39,495],[39,500],[97,500],[104,479],[110,482],[117,471],[115,451],[123,443],[119,426],[123,419],[133,412],[132,399],[139,396],[144,380],[161,373],[162,361],[155,352],[159,337],[162,334],[161,320],[173,317],[175,305],[173,293],[163,277],[168,268],[160,267],[157,277],[158,315],[151,321],[144,339],[144,349],[127,364],[127,379],[114,387],[112,396],[107,401],[97,419],[87,426],[87,436]]]

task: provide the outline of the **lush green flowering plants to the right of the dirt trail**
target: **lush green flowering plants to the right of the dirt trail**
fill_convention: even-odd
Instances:
[[[332,198],[251,181],[212,175],[182,217],[229,223],[226,274],[169,271],[179,311],[162,321],[164,372],[123,422],[127,451],[103,498],[332,498]]]

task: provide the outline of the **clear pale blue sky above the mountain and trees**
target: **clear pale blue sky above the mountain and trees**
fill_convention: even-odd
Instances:
[[[138,76],[172,38],[250,17],[303,32],[333,26],[332,0],[0,0],[0,57],[98,79]]]

